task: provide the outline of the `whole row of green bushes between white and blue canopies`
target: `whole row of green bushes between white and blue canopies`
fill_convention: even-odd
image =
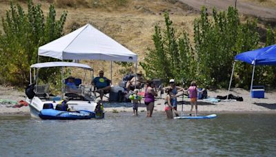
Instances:
[[[174,78],[178,83],[195,80],[204,87],[228,87],[234,56],[259,48],[257,21],[248,19],[242,23],[233,7],[229,7],[228,12],[213,9],[212,17],[202,8],[201,17],[194,22],[194,48],[186,32],[175,34],[168,13],[164,17],[166,28],[162,32],[159,25],[155,25],[152,35],[155,49],[149,49],[144,62],[140,63],[149,78],[165,82]],[[267,36],[267,45],[275,43],[273,31],[268,30]],[[234,85],[248,88],[252,66],[237,62],[235,69]],[[274,74],[273,67],[256,67],[255,84],[275,86]]]

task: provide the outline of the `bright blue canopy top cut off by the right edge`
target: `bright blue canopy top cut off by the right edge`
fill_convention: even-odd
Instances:
[[[235,60],[251,65],[276,65],[276,44],[237,54]]]

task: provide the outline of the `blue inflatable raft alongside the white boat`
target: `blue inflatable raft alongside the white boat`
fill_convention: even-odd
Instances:
[[[75,112],[59,111],[56,109],[42,109],[39,112],[41,119],[76,120],[96,118],[95,112],[80,110]]]

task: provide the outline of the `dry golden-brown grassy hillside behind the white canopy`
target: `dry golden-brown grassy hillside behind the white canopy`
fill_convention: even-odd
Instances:
[[[144,52],[152,47],[151,38],[155,24],[164,25],[165,11],[170,12],[170,19],[177,29],[185,30],[190,36],[193,33],[193,21],[199,15],[198,11],[177,0],[59,0],[58,2],[34,0],[34,3],[41,3],[45,13],[48,12],[49,2],[55,3],[58,17],[63,10],[68,11],[64,30],[66,34],[86,23],[91,23],[101,32],[138,54],[139,61],[144,59]],[[0,16],[3,17],[6,10],[10,8],[10,3],[3,0],[0,0],[0,3]],[[17,3],[26,8],[26,1],[20,0]],[[94,67],[96,75],[98,70],[103,69],[106,72],[105,75],[110,77],[110,62],[84,62],[89,62],[88,65]],[[122,76],[119,69],[119,65],[114,65],[113,82],[115,83],[119,82]]]

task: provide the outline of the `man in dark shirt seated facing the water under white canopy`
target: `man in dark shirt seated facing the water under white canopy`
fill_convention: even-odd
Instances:
[[[111,81],[103,76],[103,70],[100,70],[99,76],[92,80],[92,85],[97,88],[96,92],[99,92],[101,100],[103,100],[103,94],[110,92],[110,83]]]

